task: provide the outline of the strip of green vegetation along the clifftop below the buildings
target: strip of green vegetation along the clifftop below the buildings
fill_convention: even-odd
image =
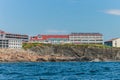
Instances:
[[[111,48],[101,44],[44,44],[44,43],[23,43],[23,49],[30,49],[32,47],[43,46],[59,46],[59,47],[82,47],[82,48]]]

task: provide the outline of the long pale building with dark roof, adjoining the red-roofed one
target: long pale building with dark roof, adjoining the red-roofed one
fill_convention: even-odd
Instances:
[[[103,35],[100,33],[71,33],[69,40],[73,44],[103,44]]]

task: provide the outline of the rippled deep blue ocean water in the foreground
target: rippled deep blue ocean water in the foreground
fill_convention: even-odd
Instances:
[[[0,80],[120,80],[120,62],[0,63]]]

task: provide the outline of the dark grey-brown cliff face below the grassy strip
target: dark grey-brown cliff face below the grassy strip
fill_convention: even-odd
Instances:
[[[32,47],[31,51],[40,55],[72,58],[73,61],[119,61],[120,49],[81,46]],[[67,60],[67,58],[65,58]]]

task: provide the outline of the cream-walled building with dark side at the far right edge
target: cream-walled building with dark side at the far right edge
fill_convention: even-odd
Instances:
[[[114,38],[104,42],[105,45],[111,47],[120,47],[120,38]]]

